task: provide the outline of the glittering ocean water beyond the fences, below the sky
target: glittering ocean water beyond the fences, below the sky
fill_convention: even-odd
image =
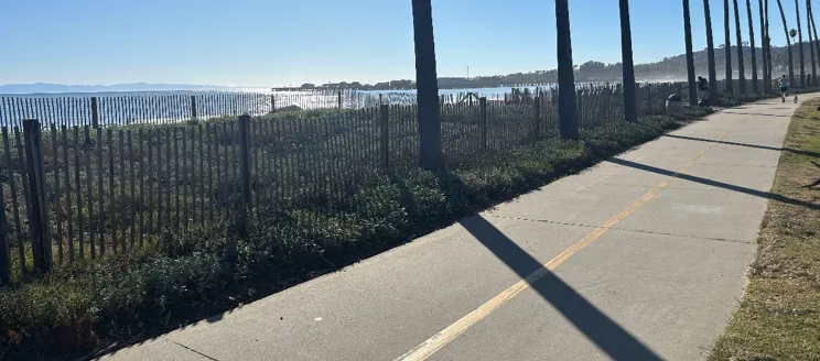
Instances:
[[[536,86],[521,86],[535,91]],[[541,86],[541,88],[544,88]],[[504,99],[512,87],[441,89],[444,102],[457,102],[468,92]],[[91,98],[96,98],[93,103]],[[343,91],[107,91],[0,95],[0,125],[21,125],[24,119],[43,124],[171,123],[192,118],[209,119],[248,113],[261,116],[274,109],[356,109],[416,102],[416,90]]]

